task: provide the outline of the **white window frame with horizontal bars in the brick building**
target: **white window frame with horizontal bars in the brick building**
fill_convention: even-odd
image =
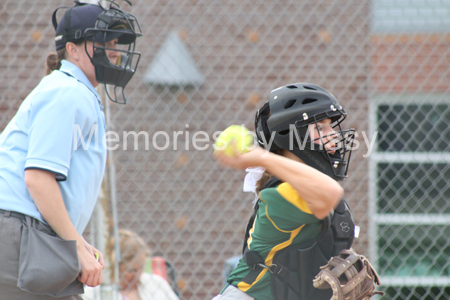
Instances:
[[[425,101],[424,101],[425,99]],[[377,108],[380,105],[410,105],[410,104],[447,104],[450,108],[450,97],[445,94],[436,95],[382,95],[369,101],[369,136],[377,130]],[[449,152],[379,152],[374,148],[369,156],[369,255],[377,269],[378,265],[378,226],[379,225],[448,225],[450,214],[378,214],[377,213],[377,164],[378,163],[448,163]],[[384,286],[450,286],[450,276],[381,276]]]

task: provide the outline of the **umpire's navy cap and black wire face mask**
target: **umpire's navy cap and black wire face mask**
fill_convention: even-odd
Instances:
[[[65,47],[67,42],[92,41],[93,56],[89,55],[87,44],[86,53],[95,67],[97,82],[105,84],[109,99],[125,104],[124,88],[133,77],[141,57],[139,52],[135,52],[135,46],[136,37],[142,36],[142,31],[134,15],[121,10],[113,0],[109,2],[109,9],[100,5],[81,3],[78,0],[75,0],[74,7],[56,9],[52,16],[53,27],[56,30],[56,50]],[[67,10],[58,24],[56,13],[61,8]],[[106,42],[116,38],[118,38],[117,48],[107,48]],[[116,64],[111,63],[106,50],[120,53]],[[114,86],[114,98],[109,94],[107,84]],[[118,87],[122,88],[123,102],[117,99]]]

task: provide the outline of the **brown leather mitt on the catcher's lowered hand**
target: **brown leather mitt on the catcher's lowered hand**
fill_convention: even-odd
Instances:
[[[330,300],[368,300],[376,294],[384,295],[375,291],[381,281],[369,260],[353,250],[342,250],[321,269],[313,285],[318,289],[331,288]]]

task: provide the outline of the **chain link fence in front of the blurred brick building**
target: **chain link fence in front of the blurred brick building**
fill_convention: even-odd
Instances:
[[[103,247],[114,228],[133,230],[170,262],[181,299],[211,299],[240,254],[253,199],[245,172],[212,159],[215,134],[253,129],[270,90],[312,82],[357,131],[343,186],[380,299],[450,298],[448,1],[133,2],[118,1],[141,23],[142,58],[128,104],[106,110],[117,148],[89,239]],[[60,5],[72,3],[0,5],[0,130],[44,75]]]

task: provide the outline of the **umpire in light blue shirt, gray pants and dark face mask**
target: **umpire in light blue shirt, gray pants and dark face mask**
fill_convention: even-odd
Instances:
[[[0,299],[81,299],[83,284],[103,280],[103,256],[81,235],[106,161],[95,87],[126,85],[137,53],[116,44],[134,49],[141,33],[117,6],[75,2],[59,24],[53,13],[50,74],[0,135]]]

